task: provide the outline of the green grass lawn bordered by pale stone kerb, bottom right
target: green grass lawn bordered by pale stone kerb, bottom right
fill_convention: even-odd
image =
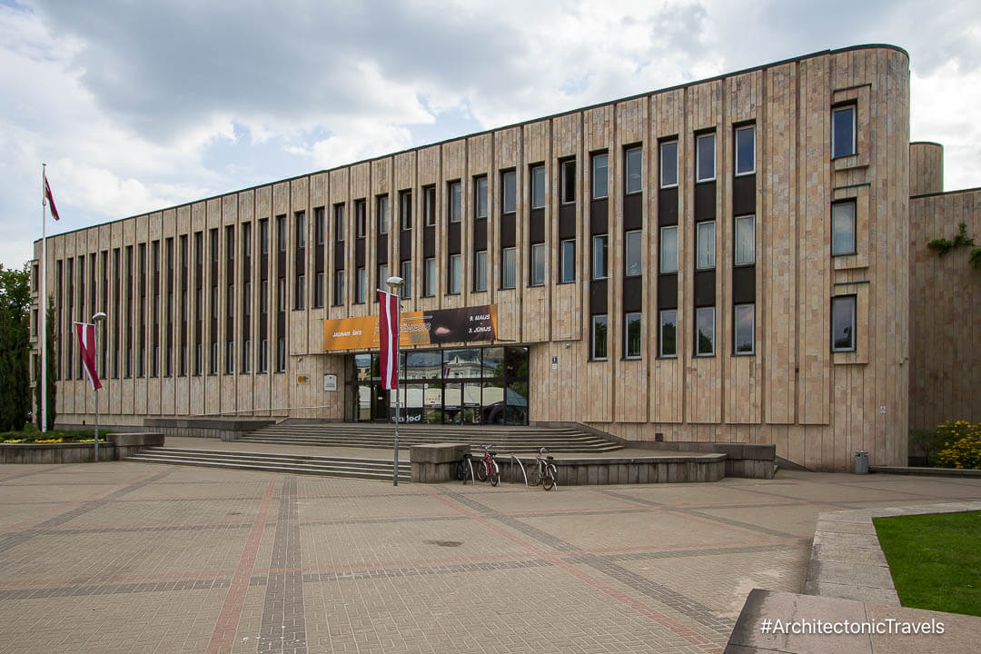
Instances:
[[[981,511],[872,522],[903,606],[981,616]]]

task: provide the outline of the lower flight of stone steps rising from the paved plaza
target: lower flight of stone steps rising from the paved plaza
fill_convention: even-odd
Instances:
[[[409,453],[398,462],[399,481],[410,477]],[[391,481],[391,459],[355,459],[345,457],[321,457],[300,454],[274,454],[271,452],[236,452],[230,450],[199,450],[178,447],[147,447],[125,461],[142,461],[178,466],[225,468],[232,470],[256,470],[287,475],[321,475],[379,479]]]

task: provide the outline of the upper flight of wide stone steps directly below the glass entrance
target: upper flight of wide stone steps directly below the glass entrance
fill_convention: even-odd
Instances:
[[[236,442],[329,447],[372,447],[391,449],[394,428],[374,423],[315,423],[286,420],[239,436]],[[474,451],[493,445],[502,454],[538,452],[613,452],[619,443],[575,428],[538,428],[459,425],[405,425],[398,428],[398,444],[467,443]],[[408,453],[406,453],[408,458]]]

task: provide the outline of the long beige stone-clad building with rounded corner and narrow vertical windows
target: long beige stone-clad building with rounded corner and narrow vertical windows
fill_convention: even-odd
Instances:
[[[907,55],[860,46],[60,234],[58,421],[91,421],[69,334],[96,311],[111,425],[387,420],[375,355],[325,321],[376,316],[398,274],[429,329],[403,354],[409,420],[903,464],[910,176],[942,190],[909,153]],[[461,308],[492,330],[437,338]]]

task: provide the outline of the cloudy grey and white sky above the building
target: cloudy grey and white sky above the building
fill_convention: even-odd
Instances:
[[[981,3],[0,0],[0,263],[40,236],[829,48],[981,185]]]

